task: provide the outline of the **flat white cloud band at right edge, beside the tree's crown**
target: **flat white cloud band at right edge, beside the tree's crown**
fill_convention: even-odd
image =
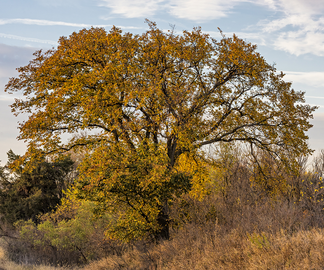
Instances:
[[[324,72],[311,71],[311,72],[295,72],[283,71],[285,81],[292,81],[304,83],[314,87],[324,87]]]

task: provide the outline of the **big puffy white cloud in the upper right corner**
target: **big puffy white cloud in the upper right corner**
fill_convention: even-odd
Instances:
[[[258,23],[275,49],[324,56],[324,1],[277,0],[275,9],[283,13],[281,18]]]

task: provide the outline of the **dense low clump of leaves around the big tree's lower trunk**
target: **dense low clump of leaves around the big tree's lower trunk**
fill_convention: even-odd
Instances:
[[[79,170],[76,194],[96,202],[97,217],[113,215],[107,235],[123,241],[161,231],[159,218],[172,195],[191,188],[190,177],[170,171],[168,156],[155,144],[142,145],[135,153],[122,143],[103,145],[84,159]]]

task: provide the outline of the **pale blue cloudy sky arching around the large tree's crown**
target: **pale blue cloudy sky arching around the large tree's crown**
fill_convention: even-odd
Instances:
[[[269,63],[276,63],[285,81],[305,92],[307,104],[318,106],[307,131],[310,148],[324,148],[324,1],[323,0],[0,0],[0,160],[12,149],[24,154],[26,143],[17,141],[17,122],[10,104],[19,93],[4,88],[16,68],[33,59],[33,53],[57,47],[60,36],[83,28],[114,25],[124,32],[148,30],[145,18],[160,29],[175,25],[176,32],[201,26],[204,33],[257,44]]]

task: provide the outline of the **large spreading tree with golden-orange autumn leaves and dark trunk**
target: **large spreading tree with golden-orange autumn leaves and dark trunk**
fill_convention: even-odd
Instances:
[[[18,68],[6,91],[22,91],[12,111],[29,113],[19,127],[18,138],[29,144],[23,158],[86,145],[85,196],[102,209],[118,208],[124,221],[133,211],[130,223],[143,232],[167,235],[163,209],[173,191],[190,186],[188,174],[174,169],[181,155],[233,141],[273,155],[309,153],[305,131],[316,108],[302,104],[304,93],[256,45],[235,35],[216,41],[199,27],[176,35],[148,24],[135,36],[116,27],[63,36],[57,49],[37,51]],[[97,132],[61,142],[64,132],[86,129]]]

